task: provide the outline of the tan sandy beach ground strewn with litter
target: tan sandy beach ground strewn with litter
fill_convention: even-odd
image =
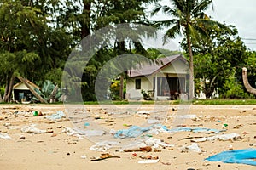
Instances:
[[[148,152],[126,152],[120,147],[96,151],[90,149],[96,144],[96,139],[68,133],[68,129],[78,125],[69,115],[67,105],[0,105],[0,169],[255,169],[244,164],[205,161],[208,156],[225,150],[256,147],[254,105],[188,105],[185,108],[180,105],[118,105],[106,106],[107,109],[105,106],[84,105],[88,111],[84,117],[92,120],[86,124],[80,117],[84,129],[95,123],[113,134],[131,125],[141,126],[143,122],[155,121],[169,129],[201,127],[221,132],[143,133],[139,138],[160,139],[161,144],[166,146],[154,145]],[[38,116],[35,111],[38,111]],[[49,117],[58,111],[62,111],[65,116],[51,120]],[[116,113],[122,113],[122,116]],[[230,133],[236,133],[238,137],[195,142],[201,137]],[[125,139],[115,141],[122,143]],[[129,141],[135,143],[137,139]],[[186,147],[191,144],[197,144],[200,150]],[[119,157],[91,161],[102,153]],[[148,159],[158,161],[139,163]]]

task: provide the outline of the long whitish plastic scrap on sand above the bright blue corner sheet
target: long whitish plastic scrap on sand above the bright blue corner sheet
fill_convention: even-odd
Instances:
[[[230,140],[230,139],[241,139],[241,136],[237,133],[230,133],[230,134],[220,134],[220,135],[215,135],[211,137],[203,137],[199,139],[192,139],[191,142],[205,142],[205,141],[212,141],[212,140]]]

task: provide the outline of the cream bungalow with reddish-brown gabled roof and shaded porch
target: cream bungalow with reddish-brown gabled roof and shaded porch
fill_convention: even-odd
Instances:
[[[126,98],[143,99],[142,90],[154,100],[185,98],[188,71],[187,60],[181,54],[137,65],[128,71]]]

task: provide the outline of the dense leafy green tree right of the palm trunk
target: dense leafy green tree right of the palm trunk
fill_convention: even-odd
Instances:
[[[192,41],[193,54],[195,58],[195,82],[202,83],[202,92],[207,98],[212,98],[212,93],[217,91],[223,94],[224,83],[236,73],[238,81],[241,82],[241,67],[247,60],[246,47],[238,36],[235,26],[211,26],[207,29],[207,35],[211,41],[204,42],[201,46]],[[186,42],[181,43],[183,48]],[[199,89],[197,89],[199,92]]]

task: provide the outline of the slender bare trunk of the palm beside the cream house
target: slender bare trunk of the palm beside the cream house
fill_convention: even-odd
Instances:
[[[191,47],[191,40],[189,33],[187,33],[187,43],[189,48],[189,99],[195,97],[195,82],[194,82],[194,64],[193,64],[193,53]]]

